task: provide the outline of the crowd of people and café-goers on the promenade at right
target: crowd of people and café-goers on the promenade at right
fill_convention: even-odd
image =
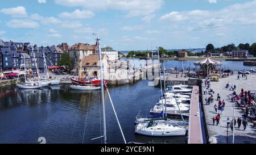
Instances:
[[[240,75],[238,75],[240,76]],[[246,74],[242,74],[242,78],[247,79]],[[239,79],[238,79],[239,80]],[[214,92],[214,90],[210,87],[210,79],[205,80],[205,88],[204,88],[204,95],[207,95],[205,98],[205,104],[206,105],[213,105],[214,108],[214,117],[212,118],[212,125],[218,125],[220,123],[220,120],[222,118],[222,115],[225,112],[225,106],[226,101],[229,101],[229,103],[235,104],[235,106],[243,112],[241,116],[236,116],[235,118],[228,118],[225,120],[227,128],[230,128],[230,130],[233,132],[234,127],[240,129],[241,125],[243,125],[243,130],[245,131],[247,128],[248,123],[255,123],[255,94],[252,94],[250,91],[244,91],[241,90],[240,94],[237,94],[237,86],[236,84],[232,84],[228,82],[225,86],[226,91],[230,91],[230,95],[228,99],[224,99],[221,97],[220,94],[217,92]],[[217,94],[216,99],[214,100],[213,95]]]

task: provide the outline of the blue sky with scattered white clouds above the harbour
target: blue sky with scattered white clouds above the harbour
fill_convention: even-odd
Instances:
[[[9,0],[0,2],[0,38],[47,46],[98,37],[118,51],[252,44],[255,8],[254,0]]]

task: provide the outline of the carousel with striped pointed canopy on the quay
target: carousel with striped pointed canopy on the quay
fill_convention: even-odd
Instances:
[[[217,66],[221,66],[223,64],[222,62],[212,60],[208,57],[194,64],[196,66],[197,78],[210,78],[211,81],[219,81],[221,71],[217,69]]]

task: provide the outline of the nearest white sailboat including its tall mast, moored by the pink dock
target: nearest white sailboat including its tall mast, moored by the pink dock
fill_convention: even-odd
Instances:
[[[158,59],[160,63],[159,49],[158,49]],[[163,96],[160,64],[159,64],[159,74],[160,74],[161,94]],[[156,119],[141,119],[143,120],[143,122],[138,122],[137,124],[135,124],[135,133],[140,135],[159,136],[159,137],[184,136],[186,134],[186,129],[184,127],[181,127],[180,125],[172,125],[167,123],[167,119],[166,119],[167,107],[166,106],[167,104],[163,104],[163,100],[162,100],[162,110],[160,112],[160,113],[163,113],[162,118],[157,119],[158,121]],[[166,117],[164,117],[164,112],[163,112],[164,107],[166,108]],[[159,106],[159,108],[161,107]]]

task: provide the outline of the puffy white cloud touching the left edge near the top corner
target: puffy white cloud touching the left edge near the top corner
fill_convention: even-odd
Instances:
[[[14,18],[21,18],[27,16],[26,8],[23,6],[12,7],[9,9],[1,9],[0,12],[6,15],[10,15]]]

